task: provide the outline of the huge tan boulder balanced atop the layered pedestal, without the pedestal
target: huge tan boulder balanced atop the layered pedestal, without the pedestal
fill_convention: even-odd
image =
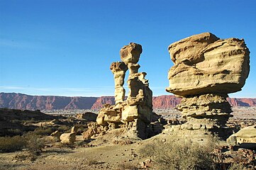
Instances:
[[[244,40],[220,40],[211,33],[192,35],[168,47],[174,66],[167,91],[178,96],[229,94],[240,91],[249,74]]]

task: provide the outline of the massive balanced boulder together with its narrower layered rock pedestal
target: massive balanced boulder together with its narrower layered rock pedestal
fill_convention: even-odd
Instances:
[[[183,128],[220,128],[231,113],[228,94],[240,91],[249,74],[244,40],[201,33],[172,43],[168,50],[174,66],[166,90],[182,97],[177,109],[188,120]]]

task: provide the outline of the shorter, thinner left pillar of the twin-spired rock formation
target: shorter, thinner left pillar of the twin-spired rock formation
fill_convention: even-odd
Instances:
[[[115,101],[116,103],[121,103],[126,95],[126,90],[123,88],[123,84],[128,67],[124,62],[112,62],[110,69],[115,81]]]

